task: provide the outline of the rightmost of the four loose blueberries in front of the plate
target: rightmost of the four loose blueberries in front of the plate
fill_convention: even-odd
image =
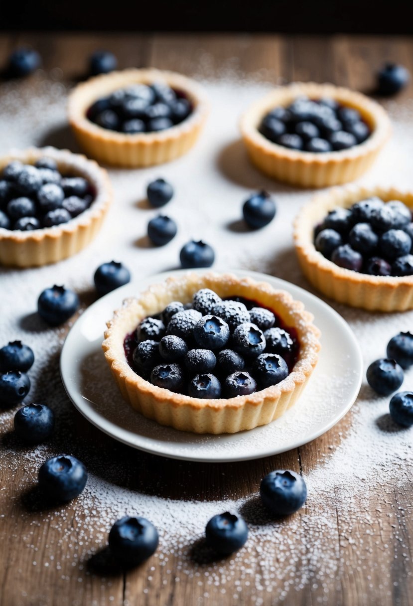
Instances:
[[[275,516],[289,516],[305,503],[307,487],[295,471],[278,469],[262,479],[260,497]]]

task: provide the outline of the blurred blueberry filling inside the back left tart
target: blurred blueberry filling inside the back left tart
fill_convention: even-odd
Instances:
[[[88,120],[125,135],[154,133],[180,124],[193,112],[182,90],[167,84],[131,84],[97,99],[87,109]]]

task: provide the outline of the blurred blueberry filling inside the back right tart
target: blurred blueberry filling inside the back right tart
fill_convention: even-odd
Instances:
[[[275,107],[258,130],[277,145],[311,153],[349,149],[371,135],[357,110],[332,98],[300,97],[286,107]]]

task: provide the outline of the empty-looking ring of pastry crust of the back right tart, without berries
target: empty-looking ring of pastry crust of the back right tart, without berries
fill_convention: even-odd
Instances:
[[[275,107],[289,105],[299,96],[330,97],[360,112],[371,135],[347,150],[312,153],[277,145],[259,132],[263,117]],[[332,84],[294,83],[276,88],[256,101],[242,115],[240,130],[249,158],[265,175],[300,187],[327,187],[354,181],[374,162],[389,138],[389,118],[375,101],[349,88]]]

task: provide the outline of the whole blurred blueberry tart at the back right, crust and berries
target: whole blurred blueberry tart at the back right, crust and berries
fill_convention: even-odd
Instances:
[[[348,88],[313,82],[271,91],[246,110],[240,129],[260,171],[301,187],[357,179],[391,130],[375,101]]]

